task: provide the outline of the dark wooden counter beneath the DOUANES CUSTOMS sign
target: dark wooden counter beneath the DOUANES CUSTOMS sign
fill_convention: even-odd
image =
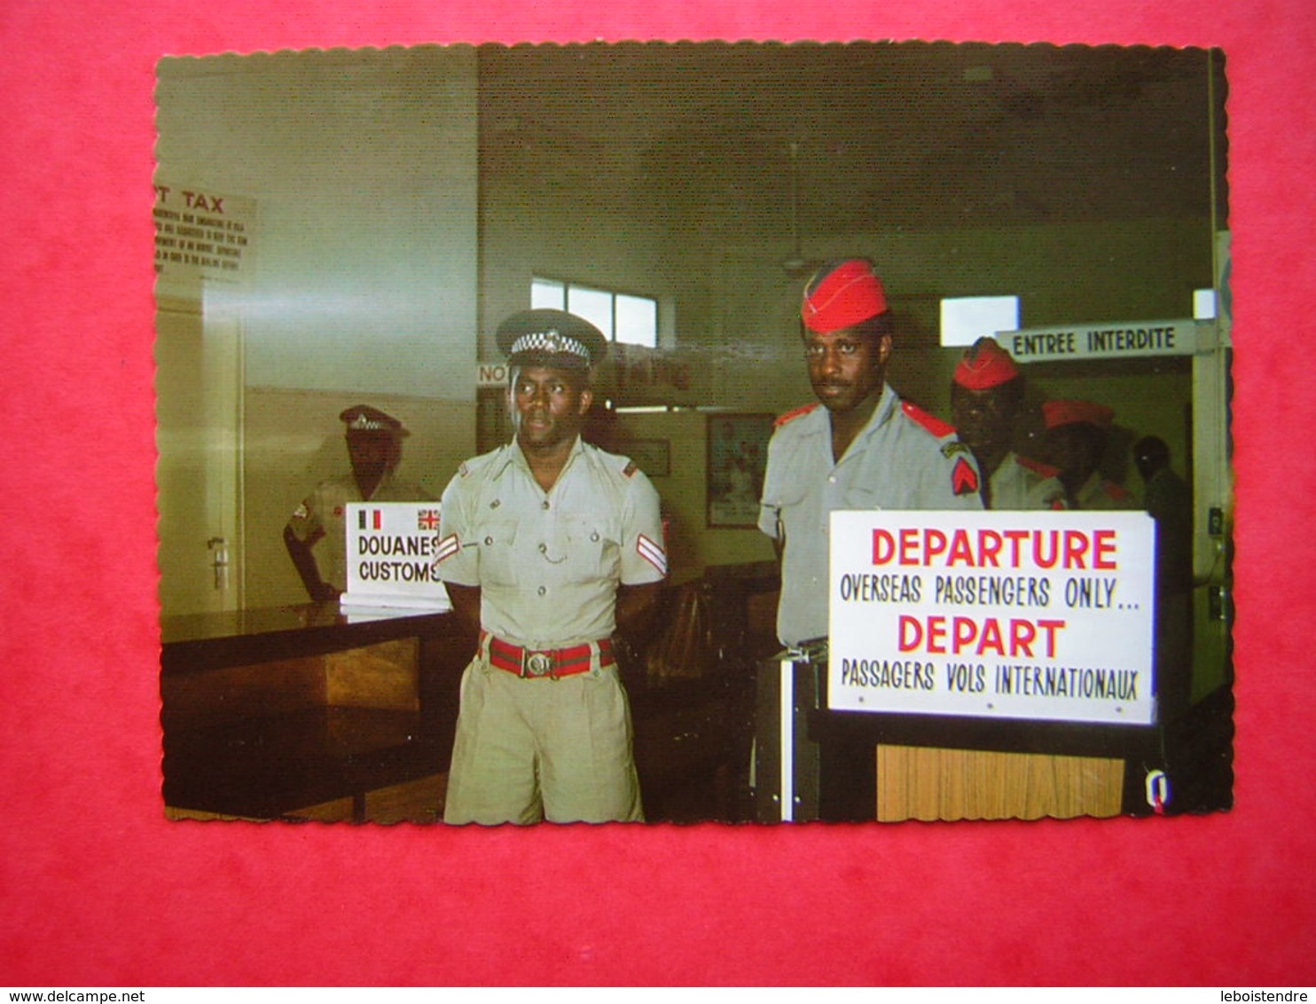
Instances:
[[[303,604],[164,617],[161,632],[170,815],[362,821],[447,770],[475,646],[454,615]]]

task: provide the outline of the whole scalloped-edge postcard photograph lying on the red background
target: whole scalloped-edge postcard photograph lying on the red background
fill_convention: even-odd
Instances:
[[[1219,50],[168,57],[171,818],[1233,801]]]

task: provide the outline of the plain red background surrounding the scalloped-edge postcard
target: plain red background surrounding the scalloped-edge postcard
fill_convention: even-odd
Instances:
[[[0,983],[1316,983],[1307,0],[355,8],[0,8]],[[840,829],[166,822],[155,61],[591,38],[1224,47],[1238,349],[1230,813]]]

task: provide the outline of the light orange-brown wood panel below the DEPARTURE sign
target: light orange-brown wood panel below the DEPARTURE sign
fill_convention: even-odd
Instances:
[[[915,746],[876,749],[878,818],[1117,816],[1124,761]]]

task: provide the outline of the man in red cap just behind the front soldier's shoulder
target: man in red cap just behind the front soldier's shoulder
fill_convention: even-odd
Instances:
[[[987,509],[1065,509],[1059,470],[1012,449],[1024,408],[1024,375],[992,338],[965,351],[950,384],[951,421],[983,475]]]

